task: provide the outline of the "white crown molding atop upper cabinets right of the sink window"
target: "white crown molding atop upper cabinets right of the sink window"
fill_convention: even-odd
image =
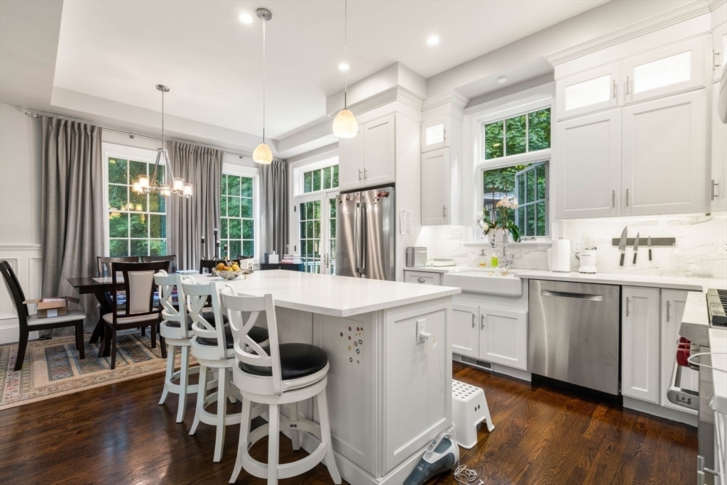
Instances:
[[[693,0],[687,4],[679,5],[678,7],[652,15],[638,22],[625,25],[622,28],[617,28],[614,31],[604,33],[602,36],[595,37],[576,46],[553,52],[553,54],[546,55],[545,60],[553,66],[566,63],[569,60],[591,54],[592,52],[611,47],[615,44],[621,44],[624,41],[635,39],[646,33],[658,31],[670,25],[699,17],[699,15],[709,13],[710,10],[718,7],[720,3],[720,1]]]

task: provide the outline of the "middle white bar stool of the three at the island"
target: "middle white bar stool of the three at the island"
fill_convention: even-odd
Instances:
[[[238,395],[230,382],[230,369],[235,362],[233,337],[230,326],[225,325],[220,311],[220,296],[217,284],[195,284],[193,278],[182,277],[182,292],[188,299],[188,308],[192,321],[192,337],[190,350],[199,363],[199,384],[197,386],[197,406],[194,422],[189,434],[193,435],[200,422],[217,428],[214,439],[214,462],[222,459],[222,444],[225,443],[225,427],[240,422],[240,413],[227,414],[227,399]],[[212,313],[206,311],[207,300],[212,300]],[[214,323],[213,323],[214,322]],[[260,345],[268,345],[268,331],[256,327],[253,331],[254,340]],[[209,380],[209,372],[217,372],[217,380]],[[207,396],[206,391],[217,387],[217,391]],[[230,399],[232,400],[232,399]],[[205,408],[217,402],[217,412],[209,412]],[[260,406],[262,407],[262,406]],[[258,408],[258,414],[261,409]],[[248,418],[249,420],[250,418]],[[248,423],[249,425],[249,423]]]

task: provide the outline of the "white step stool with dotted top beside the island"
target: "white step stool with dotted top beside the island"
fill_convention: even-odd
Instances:
[[[452,379],[452,422],[454,439],[462,448],[477,444],[477,425],[487,421],[487,430],[494,430],[485,391]]]

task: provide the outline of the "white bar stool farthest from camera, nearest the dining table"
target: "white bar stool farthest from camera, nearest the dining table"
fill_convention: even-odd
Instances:
[[[189,366],[189,353],[192,341],[192,321],[185,307],[185,296],[182,290],[181,275],[168,275],[166,271],[161,270],[154,275],[154,282],[159,289],[159,303],[161,305],[161,324],[159,324],[159,334],[164,339],[163,345],[166,344],[166,375],[164,376],[164,390],[161,391],[161,399],[159,405],[164,404],[166,396],[169,393],[179,395],[179,404],[177,404],[177,422],[184,420],[184,414],[187,409],[188,393],[196,393],[197,385],[189,385],[190,374],[197,374],[199,366]],[[174,288],[177,288],[177,302],[179,310],[174,308],[172,300]],[[182,325],[182,322],[185,322]],[[182,358],[180,361],[180,370],[174,372],[174,358],[176,356],[177,347],[182,350]],[[175,383],[178,381],[179,383]]]

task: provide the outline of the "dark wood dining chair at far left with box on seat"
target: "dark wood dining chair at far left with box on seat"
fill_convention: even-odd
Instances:
[[[18,327],[20,329],[20,338],[17,342],[17,358],[15,358],[15,372],[23,369],[23,360],[25,359],[25,348],[28,347],[28,335],[36,330],[60,329],[64,326],[76,327],[76,348],[79,350],[79,358],[85,358],[84,353],[84,321],[86,313],[80,310],[71,310],[66,315],[50,316],[47,318],[38,318],[36,315],[28,314],[28,305],[25,301],[23,287],[20,281],[17,281],[15,271],[7,261],[0,261],[0,273],[7,285],[8,292],[12,297],[17,313]]]

